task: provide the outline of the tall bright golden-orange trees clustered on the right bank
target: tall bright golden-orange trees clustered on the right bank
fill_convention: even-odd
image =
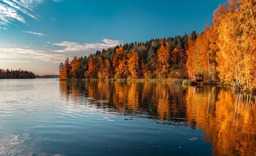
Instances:
[[[228,0],[196,41],[187,42],[187,72],[256,88],[255,0]]]

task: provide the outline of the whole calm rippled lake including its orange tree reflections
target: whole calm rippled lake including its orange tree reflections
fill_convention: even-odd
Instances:
[[[256,155],[256,96],[228,86],[0,80],[0,155]]]

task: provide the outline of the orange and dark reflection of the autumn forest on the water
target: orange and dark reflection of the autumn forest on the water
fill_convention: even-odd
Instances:
[[[256,154],[256,96],[227,86],[182,86],[126,81],[62,81],[60,93],[74,104],[94,105],[158,124],[203,132],[213,155]],[[81,102],[86,99],[87,102]]]

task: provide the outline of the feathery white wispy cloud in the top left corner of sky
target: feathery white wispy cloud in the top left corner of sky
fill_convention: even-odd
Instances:
[[[14,21],[26,23],[24,15],[30,16],[39,21],[40,17],[36,13],[39,5],[43,4],[46,0],[1,0],[0,4],[0,25],[9,26]],[[52,0],[54,2],[62,2],[64,0]]]

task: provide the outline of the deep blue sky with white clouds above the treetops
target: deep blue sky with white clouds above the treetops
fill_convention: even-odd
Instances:
[[[57,74],[66,57],[211,24],[225,0],[0,0],[0,68]]]

